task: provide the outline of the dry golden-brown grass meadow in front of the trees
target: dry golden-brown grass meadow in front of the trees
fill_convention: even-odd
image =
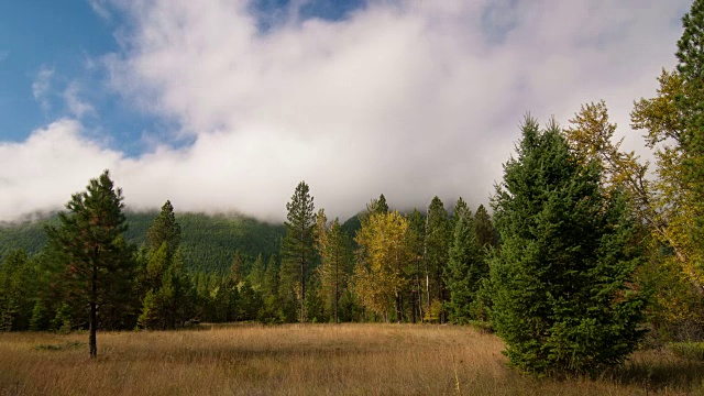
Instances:
[[[601,378],[536,380],[465,327],[201,326],[170,332],[0,333],[0,395],[690,395],[704,365],[639,352]]]

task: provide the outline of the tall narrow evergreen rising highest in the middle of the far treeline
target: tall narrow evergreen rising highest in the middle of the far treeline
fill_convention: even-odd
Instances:
[[[309,187],[300,182],[286,204],[286,237],[282,246],[282,287],[289,309],[297,309],[298,320],[306,321],[306,286],[315,254],[316,213]]]

